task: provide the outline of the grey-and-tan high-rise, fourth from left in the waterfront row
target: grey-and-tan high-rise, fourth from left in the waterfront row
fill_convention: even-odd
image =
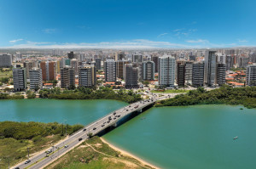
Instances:
[[[79,87],[94,87],[96,86],[96,67],[84,65],[79,68]]]

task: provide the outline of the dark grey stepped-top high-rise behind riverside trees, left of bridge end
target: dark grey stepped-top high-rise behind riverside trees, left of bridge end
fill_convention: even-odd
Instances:
[[[138,68],[133,67],[132,64],[125,64],[125,87],[126,88],[137,88],[137,73]]]

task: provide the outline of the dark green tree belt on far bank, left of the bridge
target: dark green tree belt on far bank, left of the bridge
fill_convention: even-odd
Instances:
[[[133,103],[141,100],[141,95],[132,90],[120,89],[114,91],[110,87],[100,87],[97,90],[80,87],[75,90],[64,90],[60,88],[44,89],[39,92],[40,98],[48,99],[116,99]]]

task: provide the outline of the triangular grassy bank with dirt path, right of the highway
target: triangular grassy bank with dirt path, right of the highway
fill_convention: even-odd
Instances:
[[[140,161],[130,156],[121,155],[120,152],[110,148],[108,144],[104,144],[100,138],[93,137],[46,167],[46,169],[61,168],[143,169],[152,167],[144,166]]]

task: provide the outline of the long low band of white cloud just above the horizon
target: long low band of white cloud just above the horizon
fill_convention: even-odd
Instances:
[[[191,45],[175,42],[150,41],[148,39],[133,39],[130,41],[113,42],[82,42],[82,43],[56,43],[56,42],[31,42],[14,44],[2,48],[224,48],[234,47],[236,44],[213,44],[207,40],[188,40]],[[193,44],[192,44],[193,43]],[[194,44],[195,43],[195,44]]]

